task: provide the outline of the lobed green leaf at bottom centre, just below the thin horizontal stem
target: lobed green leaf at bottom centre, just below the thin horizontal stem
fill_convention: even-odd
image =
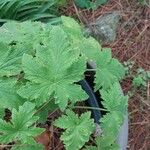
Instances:
[[[66,130],[61,136],[66,150],[79,150],[88,142],[94,130],[94,121],[90,115],[90,112],[86,112],[78,117],[73,111],[67,110],[66,115],[55,121],[55,126]]]

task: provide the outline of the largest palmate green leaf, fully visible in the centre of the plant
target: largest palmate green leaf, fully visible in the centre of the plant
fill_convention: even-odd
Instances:
[[[50,37],[36,47],[36,57],[24,55],[22,64],[28,82],[18,93],[27,99],[44,103],[54,94],[55,103],[63,110],[68,100],[76,102],[87,98],[79,85],[84,78],[86,60],[79,56],[77,47],[72,47],[65,32],[53,27]]]

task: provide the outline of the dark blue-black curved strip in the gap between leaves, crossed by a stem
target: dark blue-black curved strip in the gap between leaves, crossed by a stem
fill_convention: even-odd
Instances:
[[[87,99],[88,105],[90,107],[99,108],[95,94],[94,94],[93,90],[91,89],[90,85],[88,84],[88,82],[84,79],[84,80],[80,81],[79,83],[82,86],[82,88],[86,91],[86,93],[89,95],[89,98]],[[100,110],[92,109],[91,111],[92,111],[92,115],[94,118],[94,122],[99,124],[99,120],[101,118]]]

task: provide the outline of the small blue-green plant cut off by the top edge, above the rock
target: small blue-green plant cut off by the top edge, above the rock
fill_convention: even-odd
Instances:
[[[105,4],[107,0],[96,0],[92,2],[91,0],[75,0],[75,4],[81,8],[87,9],[97,9],[100,5]]]

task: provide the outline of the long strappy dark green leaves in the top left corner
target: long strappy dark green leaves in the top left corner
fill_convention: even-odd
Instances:
[[[42,20],[55,22],[58,7],[64,5],[65,0],[1,0],[0,21],[8,20]]]

